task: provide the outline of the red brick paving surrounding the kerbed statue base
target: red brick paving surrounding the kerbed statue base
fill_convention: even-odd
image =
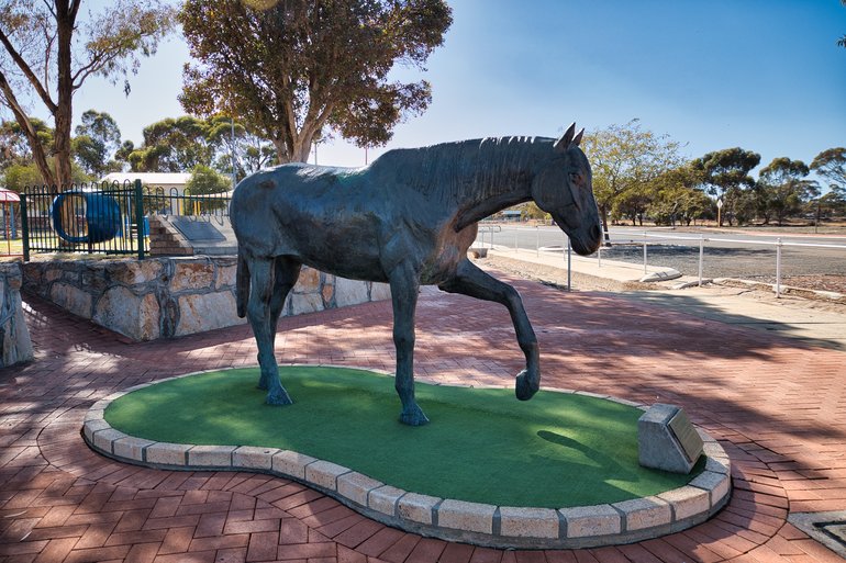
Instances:
[[[846,509],[846,354],[511,281],[538,334],[543,383],[683,405],[732,458],[726,509],[637,544],[514,552],[386,528],[281,478],[118,463],[80,439],[88,407],[138,383],[255,364],[249,329],[131,344],[27,296],[36,361],[0,370],[0,563],[842,561],[786,518]],[[285,318],[277,357],[390,371],[390,315],[385,302]],[[426,289],[415,362],[421,380],[511,385],[522,353],[504,308]]]

